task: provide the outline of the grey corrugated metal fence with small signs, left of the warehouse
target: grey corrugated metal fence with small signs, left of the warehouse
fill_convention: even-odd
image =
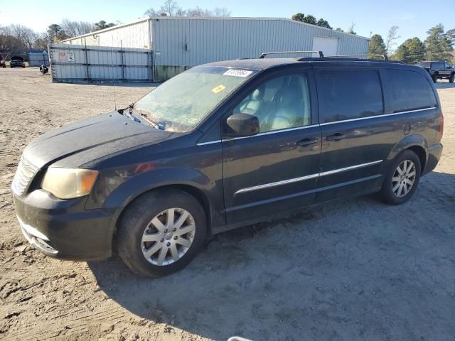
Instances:
[[[153,82],[153,53],[145,48],[55,44],[53,82]]]

